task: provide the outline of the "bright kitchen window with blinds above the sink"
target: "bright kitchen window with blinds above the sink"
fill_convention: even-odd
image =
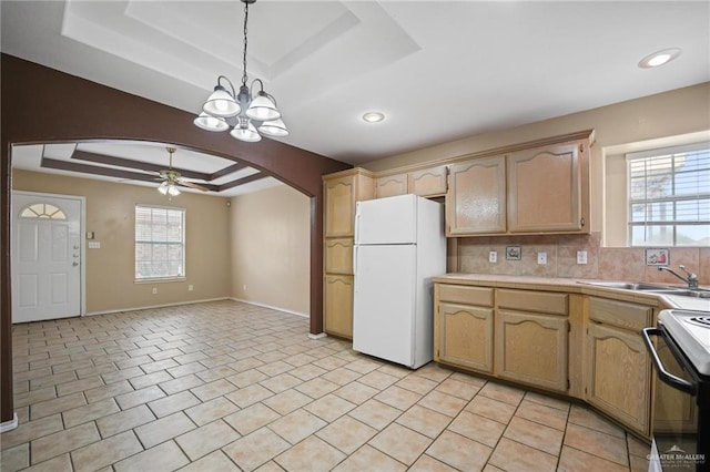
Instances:
[[[627,154],[631,246],[710,246],[710,143]]]

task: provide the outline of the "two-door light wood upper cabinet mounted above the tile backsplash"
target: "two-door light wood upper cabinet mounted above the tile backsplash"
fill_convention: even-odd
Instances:
[[[447,236],[589,233],[590,131],[450,166]]]

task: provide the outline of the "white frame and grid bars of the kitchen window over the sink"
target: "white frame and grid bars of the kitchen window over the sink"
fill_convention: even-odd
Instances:
[[[631,153],[627,153],[626,154],[626,185],[627,185],[627,244],[628,247],[659,247],[659,246],[668,246],[668,247],[707,247],[710,246],[710,244],[708,245],[700,245],[700,244],[678,244],[678,227],[679,226],[706,226],[706,227],[710,227],[710,217],[708,217],[708,219],[700,219],[700,215],[698,219],[682,219],[682,218],[678,218],[678,204],[682,203],[682,202],[688,202],[688,201],[708,201],[710,202],[710,189],[708,192],[701,192],[701,187],[698,186],[697,193],[694,194],[679,194],[677,193],[677,188],[676,188],[676,183],[677,179],[676,177],[679,174],[682,174],[683,171],[679,171],[674,163],[673,160],[677,158],[678,155],[684,154],[684,153],[692,153],[692,152],[697,152],[697,151],[704,151],[707,153],[710,153],[710,142],[708,141],[702,141],[702,142],[696,142],[696,143],[691,143],[691,144],[684,144],[684,145],[677,145],[677,146],[666,146],[666,147],[657,147],[657,148],[652,148],[652,150],[646,150],[646,151],[639,151],[639,152],[631,152]],[[672,170],[669,171],[669,174],[671,176],[671,191],[669,195],[663,195],[663,196],[658,196],[658,197],[648,197],[646,196],[645,198],[637,198],[633,199],[632,198],[632,193],[633,193],[633,185],[632,185],[632,176],[631,176],[631,165],[632,162],[635,161],[640,161],[640,160],[649,160],[649,158],[670,158],[671,160],[671,165],[672,165]],[[709,172],[710,170],[710,161],[709,165],[707,167],[701,167],[699,170],[696,171],[696,173],[700,173],[700,172]],[[643,177],[646,179],[646,183],[648,183],[648,177]],[[710,188],[710,186],[708,187]],[[673,212],[673,217],[672,218],[663,218],[663,219],[649,219],[648,215],[645,216],[645,218],[642,220],[638,220],[635,222],[633,220],[633,206],[635,205],[645,205],[645,206],[649,206],[649,205],[653,205],[653,204],[670,204],[672,206],[672,212]],[[645,240],[642,244],[636,243],[633,239],[633,228],[635,227],[660,227],[660,226],[668,226],[671,228],[672,232],[672,240],[669,243],[653,243],[653,242],[648,242]],[[649,239],[648,237],[646,239]]]

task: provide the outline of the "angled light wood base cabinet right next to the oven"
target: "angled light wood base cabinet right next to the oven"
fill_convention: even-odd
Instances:
[[[587,327],[586,400],[648,437],[651,363],[639,330],[652,308],[591,297]]]

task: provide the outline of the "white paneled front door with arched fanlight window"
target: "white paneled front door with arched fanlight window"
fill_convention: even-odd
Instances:
[[[81,316],[82,206],[82,198],[12,194],[12,322]]]

